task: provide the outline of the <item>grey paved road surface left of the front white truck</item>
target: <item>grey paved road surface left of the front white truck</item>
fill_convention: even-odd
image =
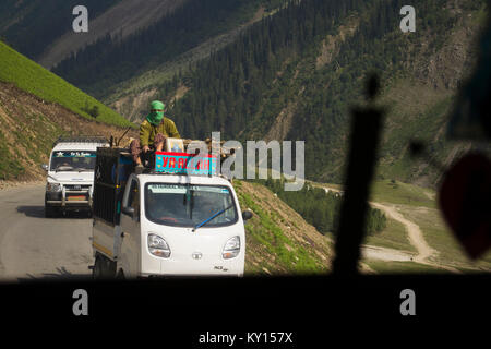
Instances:
[[[89,277],[92,219],[45,218],[45,186],[0,191],[0,281]]]

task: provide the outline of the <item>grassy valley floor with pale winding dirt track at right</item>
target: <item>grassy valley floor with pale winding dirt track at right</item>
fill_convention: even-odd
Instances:
[[[312,185],[343,191],[336,184]],[[403,219],[416,225],[422,238],[434,253],[428,263],[412,261],[418,248],[409,238],[407,222],[386,215],[386,228],[368,234],[363,244],[373,246],[370,257],[362,258],[375,273],[475,273],[491,270],[491,251],[478,261],[471,261],[446,225],[439,208],[438,192],[395,180],[379,180],[371,185],[370,202],[379,209],[380,204],[394,209]],[[380,255],[373,252],[381,252]],[[404,261],[400,261],[400,258]]]

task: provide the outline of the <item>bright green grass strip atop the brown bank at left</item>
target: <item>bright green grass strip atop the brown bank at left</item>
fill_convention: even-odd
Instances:
[[[73,112],[94,120],[84,110],[88,104],[98,109],[97,121],[119,127],[133,125],[112,109],[84,94],[61,77],[20,55],[0,41],[0,81],[14,83],[17,87],[38,96],[45,101],[57,103]],[[135,127],[135,125],[134,125]]]

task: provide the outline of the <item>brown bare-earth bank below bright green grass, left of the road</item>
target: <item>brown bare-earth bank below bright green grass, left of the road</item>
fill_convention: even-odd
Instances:
[[[120,137],[124,129],[83,118],[13,84],[0,82],[0,181],[46,179],[40,165],[48,163],[52,143],[60,135]],[[137,130],[128,133],[128,136],[136,135]],[[128,137],[122,142],[127,141]]]

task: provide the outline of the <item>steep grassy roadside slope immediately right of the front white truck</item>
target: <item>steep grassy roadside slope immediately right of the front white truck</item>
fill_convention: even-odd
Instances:
[[[319,274],[331,269],[333,242],[258,183],[233,181],[246,225],[247,274]]]

